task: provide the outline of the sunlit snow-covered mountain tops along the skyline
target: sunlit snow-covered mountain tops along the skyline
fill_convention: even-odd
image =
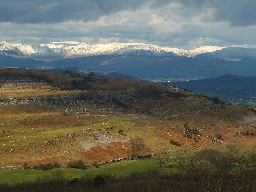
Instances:
[[[186,56],[221,50],[224,47],[205,46],[194,50],[161,47],[143,43],[108,43],[90,45],[84,42],[52,42],[49,44],[10,44],[0,42],[0,52],[6,55],[32,57],[37,59],[56,60],[90,55],[145,55],[145,56]]]

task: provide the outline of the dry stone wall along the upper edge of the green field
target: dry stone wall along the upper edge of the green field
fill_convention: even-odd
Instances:
[[[188,149],[184,149],[184,150],[169,150],[169,151],[164,151],[164,152],[160,152],[160,153],[138,156],[138,159],[147,158],[147,157],[154,157],[154,156],[157,156],[159,154],[182,152],[182,151],[191,151],[191,150],[196,150],[196,149],[188,148]],[[120,162],[120,161],[125,161],[125,160],[134,160],[134,159],[135,159],[134,157],[125,157],[125,158],[113,159],[113,160],[110,160],[110,161],[99,163],[99,166],[110,164],[110,163],[115,163],[115,162]],[[66,165],[66,164],[60,164],[59,166],[60,166],[60,168],[67,168],[68,167],[68,165]],[[94,164],[86,164],[84,166],[85,167],[93,167]],[[33,167],[34,166],[31,166],[30,169],[33,169]],[[23,167],[22,166],[0,167],[0,170],[12,170],[12,169],[23,169]]]

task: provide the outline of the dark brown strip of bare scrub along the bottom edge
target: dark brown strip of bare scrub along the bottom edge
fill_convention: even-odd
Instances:
[[[86,175],[80,178],[64,179],[61,174],[42,177],[36,182],[22,184],[1,184],[4,192],[51,191],[51,192],[255,192],[256,169],[232,172],[206,172],[199,168],[195,172],[168,172],[157,170],[134,172],[119,176],[112,174]]]

